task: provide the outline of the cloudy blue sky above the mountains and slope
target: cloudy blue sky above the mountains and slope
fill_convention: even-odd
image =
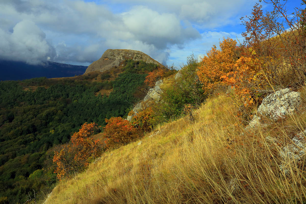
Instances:
[[[178,68],[223,37],[258,0],[0,0],[0,59],[90,65],[107,49],[139,50]],[[300,0],[288,0],[292,10]],[[263,8],[270,6],[262,2]]]

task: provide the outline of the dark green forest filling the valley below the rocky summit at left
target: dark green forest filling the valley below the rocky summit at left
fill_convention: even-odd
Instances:
[[[49,149],[69,142],[82,124],[103,127],[105,118],[127,116],[140,97],[135,92],[157,65],[133,60],[123,65],[113,77],[103,72],[0,82],[0,203],[24,203],[48,190],[56,182],[54,169],[46,168],[52,162]],[[102,89],[113,91],[97,95]]]

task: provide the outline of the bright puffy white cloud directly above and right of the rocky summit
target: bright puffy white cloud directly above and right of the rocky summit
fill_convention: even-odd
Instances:
[[[123,22],[135,39],[152,44],[158,49],[200,37],[196,29],[183,28],[174,14],[160,14],[144,6],[136,6],[124,13]]]

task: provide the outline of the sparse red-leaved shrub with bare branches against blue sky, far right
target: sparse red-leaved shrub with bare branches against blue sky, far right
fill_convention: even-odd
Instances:
[[[287,13],[287,1],[263,2],[270,4],[273,11],[263,12],[256,3],[250,16],[241,17],[246,28],[242,33],[244,45],[265,61],[271,85],[300,87],[306,80],[306,8],[302,6],[306,1],[301,1],[293,13]]]

